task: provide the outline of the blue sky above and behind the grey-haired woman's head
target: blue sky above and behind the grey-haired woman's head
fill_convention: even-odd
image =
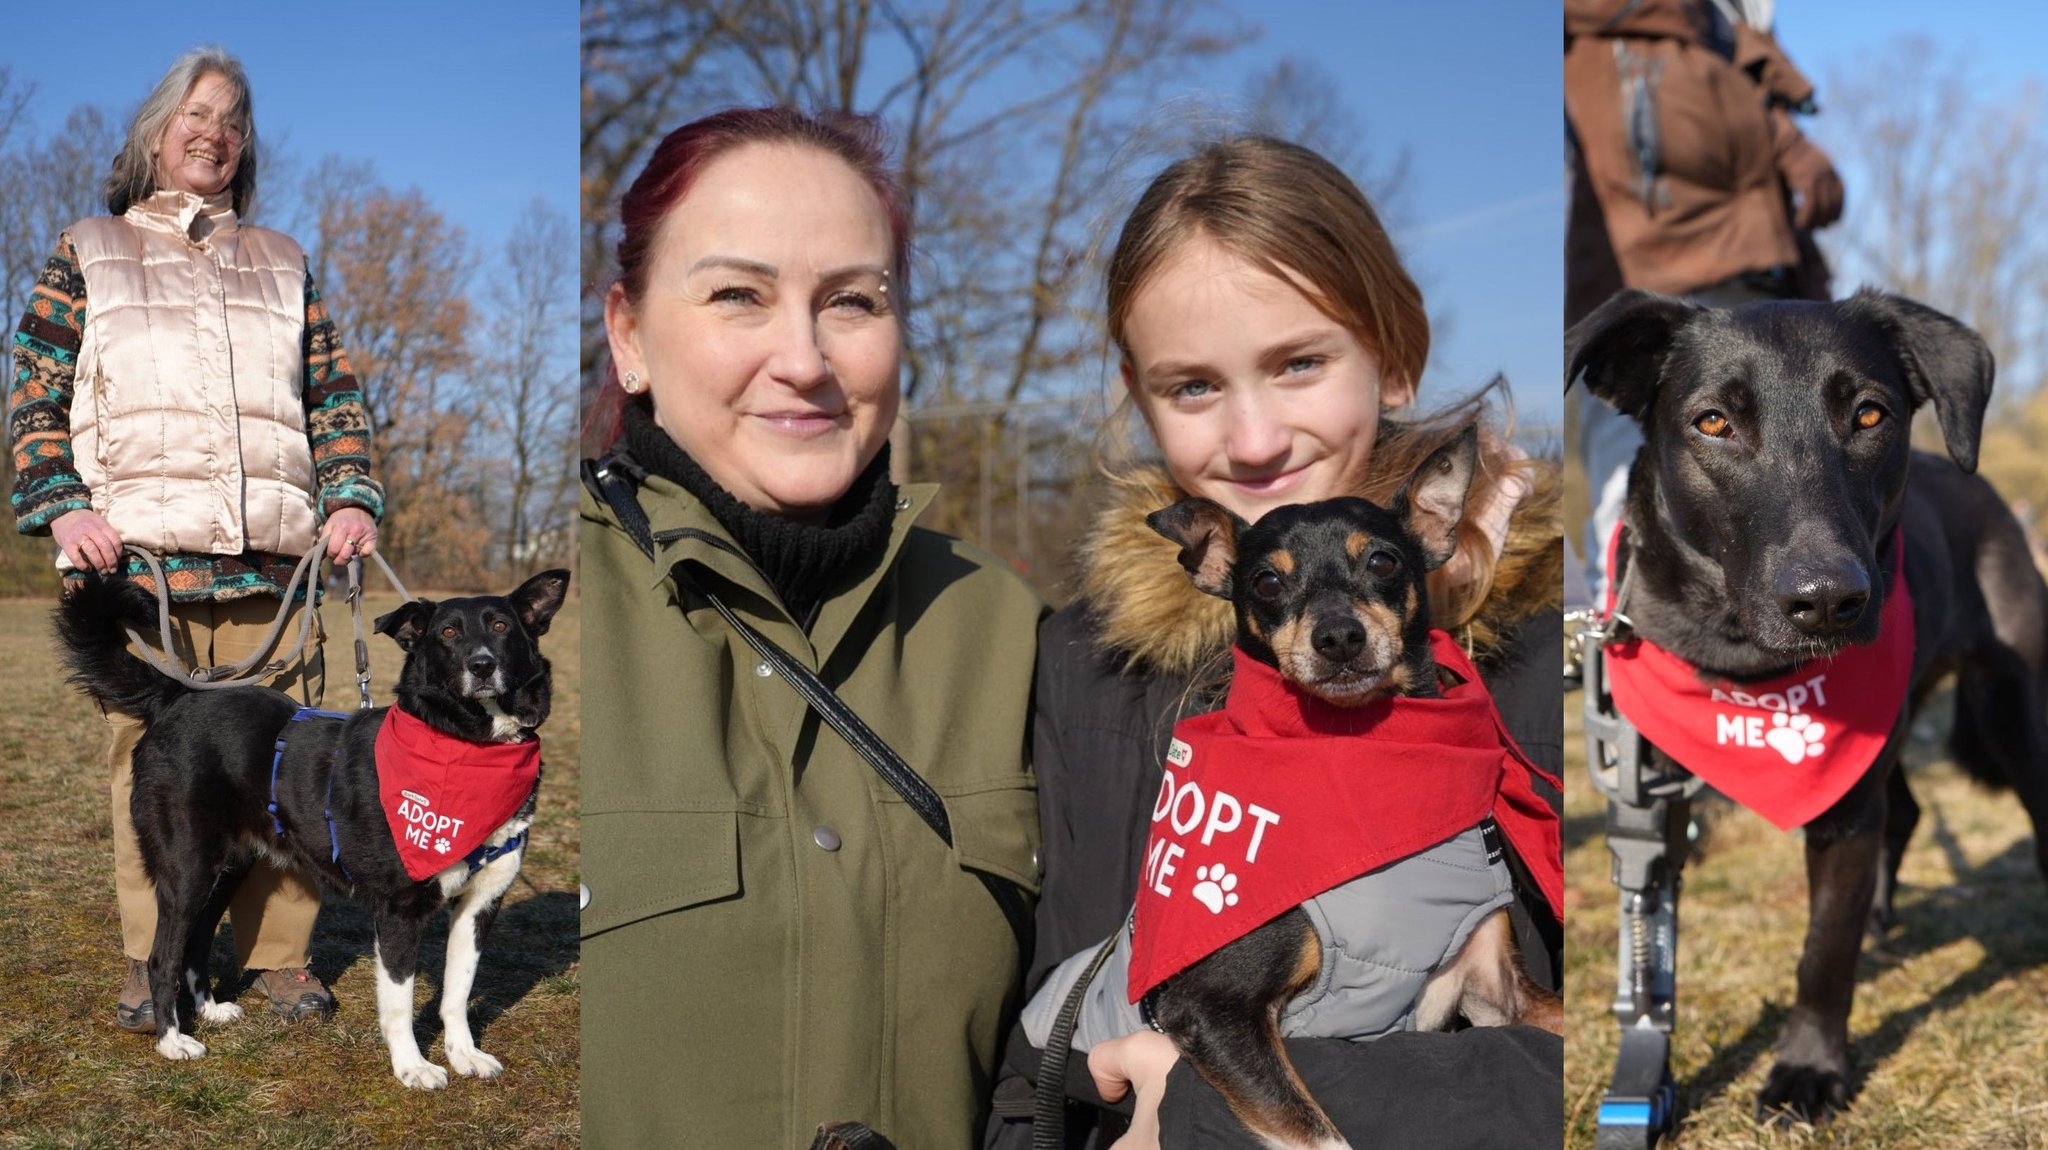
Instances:
[[[178,53],[219,43],[250,74],[266,141],[285,139],[307,166],[328,153],[375,162],[385,184],[418,186],[485,260],[535,196],[575,219],[571,0],[123,0],[80,12],[59,37],[10,35],[0,47],[14,82],[37,88],[37,135],[78,104],[125,125]]]

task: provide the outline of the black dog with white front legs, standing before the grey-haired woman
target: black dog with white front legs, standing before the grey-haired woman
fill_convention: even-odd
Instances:
[[[551,690],[539,638],[567,585],[567,571],[545,571],[504,598],[414,600],[379,618],[377,630],[406,649],[397,706],[469,745],[532,741]],[[207,956],[242,872],[262,853],[371,906],[377,1021],[391,1070],[418,1089],[449,1082],[449,1072],[420,1054],[412,1033],[420,931],[449,902],[440,994],[449,1064],[459,1074],[500,1074],[500,1062],[477,1050],[469,1033],[469,988],[498,898],[518,874],[535,794],[483,839],[473,855],[481,866],[455,855],[444,870],[416,882],[379,800],[377,743],[389,708],[295,718],[297,702],[268,688],[193,690],[127,651],[123,626],[150,626],[154,618],[156,602],[145,589],[90,573],[57,608],[72,681],[100,706],[147,726],[135,747],[131,814],[156,880],[150,990],[158,1052],[201,1058],[207,1048],[186,1033],[190,1019],[242,1015],[240,1007],[211,999]],[[414,810],[412,798],[406,808]],[[432,841],[424,845],[432,849]]]

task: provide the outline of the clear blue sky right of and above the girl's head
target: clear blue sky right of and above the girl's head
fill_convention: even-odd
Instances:
[[[1395,241],[1446,323],[1423,403],[1505,372],[1524,426],[1556,426],[1565,315],[1563,31],[1540,0],[1239,2],[1264,27],[1212,84],[1235,96],[1274,59],[1337,84],[1376,156],[1409,153]]]

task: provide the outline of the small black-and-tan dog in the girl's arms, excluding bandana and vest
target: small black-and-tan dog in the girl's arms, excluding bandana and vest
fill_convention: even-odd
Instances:
[[[1182,499],[1147,522],[1182,544],[1194,585],[1231,600],[1237,645],[1337,706],[1436,698],[1423,575],[1456,544],[1477,467],[1466,430],[1423,460],[1395,507],[1327,499],[1276,507],[1245,524],[1208,499]],[[1286,1060],[1276,1019],[1323,966],[1303,909],[1292,909],[1176,974],[1153,994],[1153,1019],[1270,1146],[1343,1146]],[[1483,1025],[1528,1021],[1559,1031],[1561,1003],[1522,972],[1499,911],[1423,990],[1417,1025],[1456,1015]]]

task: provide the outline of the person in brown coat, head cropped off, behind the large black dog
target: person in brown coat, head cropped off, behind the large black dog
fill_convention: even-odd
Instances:
[[[1827,299],[1812,231],[1841,217],[1843,188],[1792,121],[1815,110],[1757,0],[1565,0],[1565,325],[1622,289],[1712,307]],[[1640,442],[1628,419],[1581,403],[1595,600]]]

